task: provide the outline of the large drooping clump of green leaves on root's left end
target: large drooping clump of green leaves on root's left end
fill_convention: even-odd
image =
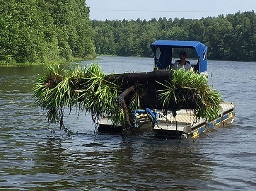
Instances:
[[[77,107],[92,114],[94,122],[101,115],[111,115],[116,124],[124,124],[124,116],[117,109],[118,86],[107,82],[98,64],[88,68],[73,66],[69,70],[48,65],[33,87],[36,104],[46,109],[50,123],[63,126],[63,108]]]

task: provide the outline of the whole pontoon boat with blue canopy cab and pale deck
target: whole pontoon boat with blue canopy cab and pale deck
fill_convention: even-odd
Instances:
[[[200,75],[207,74],[207,47],[198,41],[173,41],[157,40],[150,45],[154,53],[154,70],[165,70],[177,61],[179,52],[185,51],[186,60],[193,70]],[[156,137],[160,138],[189,138],[197,137],[203,131],[213,127],[224,127],[231,124],[235,116],[235,104],[233,102],[223,102],[222,111],[217,119],[207,121],[206,119],[196,120],[193,111],[181,109],[174,116],[172,112],[156,111],[154,108],[138,109],[133,111],[134,128],[147,129],[151,127]],[[106,132],[112,127],[109,119],[99,121],[98,131]],[[110,128],[113,130],[113,128]],[[115,130],[120,130],[116,127]]]

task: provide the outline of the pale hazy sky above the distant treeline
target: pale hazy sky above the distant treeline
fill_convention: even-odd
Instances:
[[[256,0],[86,0],[96,20],[217,17],[252,11]]]

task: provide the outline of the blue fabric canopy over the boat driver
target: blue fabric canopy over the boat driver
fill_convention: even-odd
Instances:
[[[162,58],[157,59],[155,66],[158,67],[158,62],[166,62],[167,59],[163,58],[163,56],[168,57],[168,53],[171,51],[172,48],[193,48],[196,50],[198,55],[198,71],[199,72],[206,72],[207,70],[207,47],[200,43],[199,41],[178,41],[178,40],[156,40],[150,45],[151,49],[153,50],[156,56],[156,49],[160,47]],[[168,51],[168,53],[167,53]],[[169,53],[170,54],[170,53]],[[162,63],[161,67],[164,65],[167,68],[167,63]],[[162,68],[164,69],[164,68]]]

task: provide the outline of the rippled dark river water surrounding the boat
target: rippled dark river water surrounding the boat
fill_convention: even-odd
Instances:
[[[103,71],[151,71],[152,58],[99,57]],[[209,61],[213,85],[236,102],[234,124],[197,139],[94,134],[89,114],[47,126],[32,87],[43,67],[0,68],[0,189],[254,190],[256,63]],[[54,131],[52,131],[54,129]]]

